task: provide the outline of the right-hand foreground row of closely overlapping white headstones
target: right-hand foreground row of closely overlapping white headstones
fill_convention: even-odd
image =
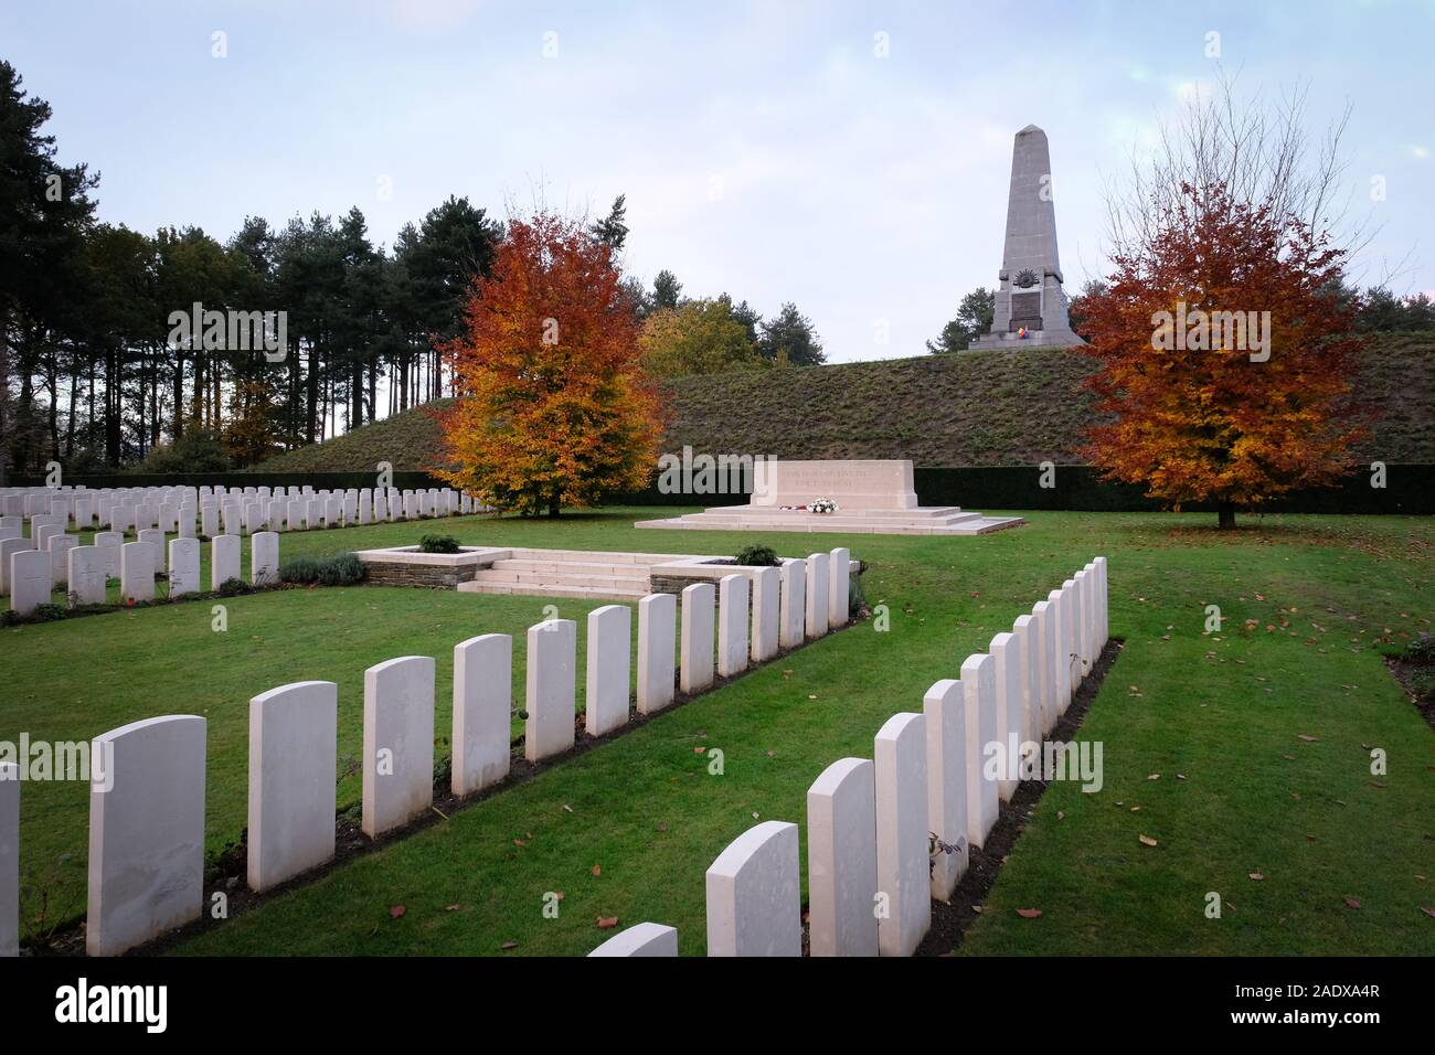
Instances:
[[[1098,557],[893,715],[872,758],[842,758],[808,788],[812,956],[911,956],[1108,640]],[[1035,751],[1023,755],[1023,745]],[[990,764],[989,764],[990,762]],[[1036,775],[1040,775],[1039,772]],[[801,956],[798,825],[763,821],[707,868],[709,956]],[[677,932],[640,923],[590,956],[676,956]]]

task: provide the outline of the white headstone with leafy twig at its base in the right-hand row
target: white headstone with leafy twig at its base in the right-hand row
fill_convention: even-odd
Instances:
[[[961,682],[946,677],[923,699],[927,719],[927,824],[938,840],[931,896],[938,901],[967,871],[967,716]]]

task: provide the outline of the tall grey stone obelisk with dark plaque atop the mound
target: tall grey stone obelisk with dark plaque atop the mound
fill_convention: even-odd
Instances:
[[[1006,200],[1006,247],[992,330],[969,347],[1071,347],[1085,342],[1072,332],[1056,255],[1056,208],[1052,204],[1052,151],[1046,132],[1027,125],[1012,146],[1012,187]]]

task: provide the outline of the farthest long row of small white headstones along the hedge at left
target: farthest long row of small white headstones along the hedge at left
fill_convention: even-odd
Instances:
[[[453,488],[400,491],[397,488],[350,488],[314,491],[313,487],[151,487],[88,489],[0,489],[0,538],[20,528],[26,518],[32,535],[39,527],[55,525],[62,533],[73,522],[76,531],[96,524],[110,531],[158,528],[181,538],[199,534],[254,534],[257,531],[300,531],[319,527],[353,527],[382,521],[484,512],[486,507]],[[36,547],[43,548],[43,547]]]

